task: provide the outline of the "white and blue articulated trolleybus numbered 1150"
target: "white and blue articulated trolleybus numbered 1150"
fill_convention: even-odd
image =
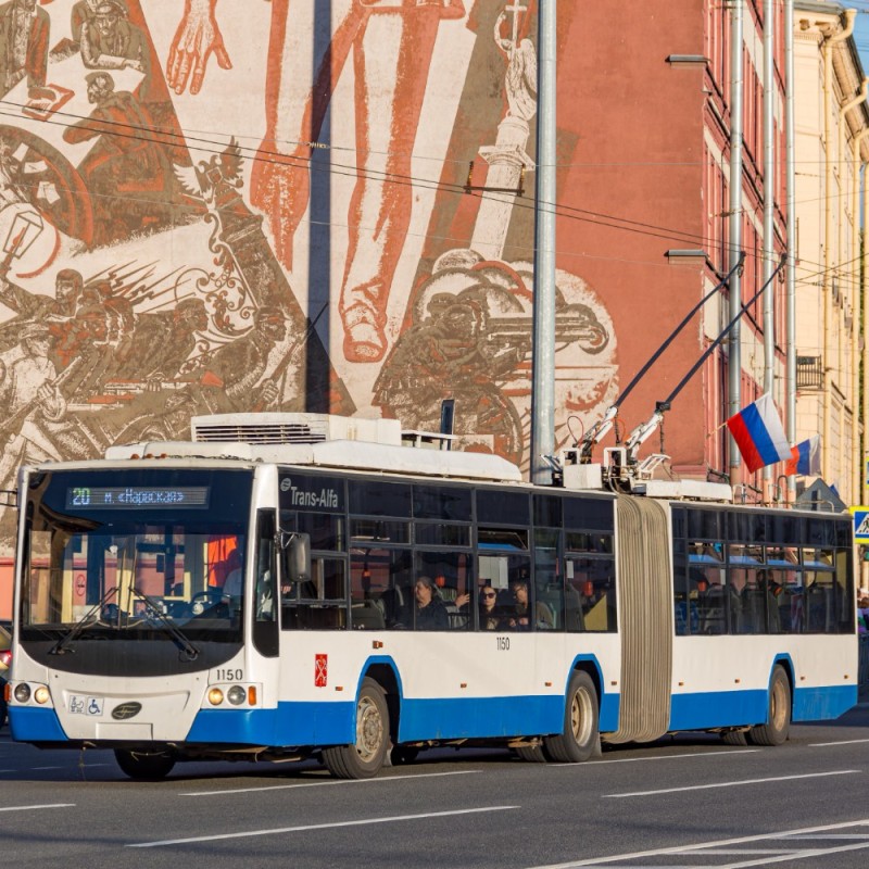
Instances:
[[[531,486],[439,439],[224,415],[24,468],[13,738],[112,748],[133,778],[308,757],[366,778],[444,745],[774,745],[856,703],[847,518],[619,493],[576,451]]]

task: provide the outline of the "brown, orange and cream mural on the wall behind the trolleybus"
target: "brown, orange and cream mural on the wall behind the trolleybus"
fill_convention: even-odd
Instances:
[[[0,488],[197,414],[431,429],[448,398],[466,446],[527,465],[536,15],[0,3]],[[556,280],[564,441],[615,399],[617,356],[599,293]]]

